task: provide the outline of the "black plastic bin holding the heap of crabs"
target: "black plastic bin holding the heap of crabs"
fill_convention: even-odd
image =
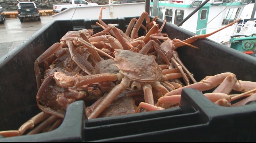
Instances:
[[[133,17],[104,20],[125,31]],[[136,17],[138,18],[138,17]],[[150,17],[151,19],[153,17]],[[68,31],[102,31],[98,20],[57,20],[44,26],[0,58],[0,131],[17,130],[40,112],[33,63]],[[162,25],[163,21],[158,19]],[[163,33],[184,40],[195,34],[166,23]],[[179,57],[197,81],[232,72],[237,79],[256,81],[256,58],[208,39],[179,47]],[[256,141],[256,104],[221,107],[195,89],[185,89],[178,108],[87,120],[83,101],[69,105],[54,131],[0,138],[0,141]]]

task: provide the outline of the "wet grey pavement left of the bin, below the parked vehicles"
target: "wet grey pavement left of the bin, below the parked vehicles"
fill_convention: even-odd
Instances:
[[[41,21],[33,19],[24,22],[20,22],[19,18],[6,18],[4,24],[0,24],[0,58],[52,20],[50,16],[41,16]]]

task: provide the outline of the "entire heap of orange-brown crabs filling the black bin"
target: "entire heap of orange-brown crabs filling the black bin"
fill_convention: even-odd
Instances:
[[[101,32],[69,31],[35,60],[36,101],[42,112],[17,131],[2,131],[0,135],[23,135],[41,122],[43,125],[27,134],[52,131],[62,123],[67,106],[77,100],[85,102],[87,118],[94,119],[175,108],[184,88],[202,93],[214,88],[204,95],[226,107],[245,105],[256,97],[256,83],[237,80],[233,73],[210,75],[197,82],[185,68],[176,49],[184,45],[198,48],[190,43],[210,34],[171,40],[162,33],[165,21],[160,27],[157,17],[150,21],[147,12],[133,18],[124,33],[101,20],[103,9],[97,23],[103,28]],[[144,20],[146,25],[142,25]],[[139,28],[145,30],[143,36],[139,36]],[[229,95],[232,90],[241,94]],[[247,98],[231,105],[240,97]]]

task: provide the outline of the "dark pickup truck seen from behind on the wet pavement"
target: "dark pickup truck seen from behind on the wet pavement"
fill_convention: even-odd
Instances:
[[[18,17],[21,22],[35,18],[41,20],[39,10],[34,2],[19,2],[17,6]]]

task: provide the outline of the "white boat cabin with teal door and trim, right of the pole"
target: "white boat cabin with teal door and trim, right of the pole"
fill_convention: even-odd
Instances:
[[[208,37],[230,46],[231,36],[256,33],[255,19],[249,18],[253,7],[251,0],[159,0],[150,2],[150,14],[196,34],[213,32],[241,18],[238,24]]]

